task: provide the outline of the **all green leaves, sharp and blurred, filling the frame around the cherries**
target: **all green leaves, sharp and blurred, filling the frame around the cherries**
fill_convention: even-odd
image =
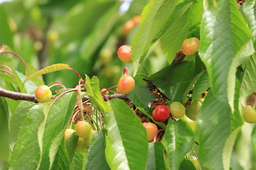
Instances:
[[[75,151],[78,136],[71,136],[66,145],[62,140],[75,92],[53,106],[1,97],[0,169],[194,169],[183,159],[193,154],[192,148],[202,169],[256,169],[256,128],[241,116],[245,98],[256,91],[255,3],[247,0],[240,10],[235,0],[14,0],[0,4],[0,44],[8,45],[5,50],[30,63],[30,73],[57,63],[77,70],[86,77],[86,95],[106,124],[86,156]],[[137,15],[142,15],[139,26],[124,35],[122,27]],[[183,40],[193,36],[201,39],[198,55],[171,64]],[[124,44],[132,45],[132,64],[117,57],[117,48]],[[75,73],[64,67],[23,84],[27,75],[18,58],[1,54],[0,64],[13,69],[15,80],[0,72],[0,87],[7,90],[33,94],[44,83],[60,81],[70,88],[78,84]],[[169,103],[186,101],[191,88],[195,101],[210,87],[196,130],[186,121],[170,119],[157,123],[166,129],[162,142],[148,144],[130,108],[117,98],[105,102],[100,94],[101,88],[117,84],[124,67],[137,83],[127,97],[149,119],[148,105],[154,96],[144,86],[142,74]]]

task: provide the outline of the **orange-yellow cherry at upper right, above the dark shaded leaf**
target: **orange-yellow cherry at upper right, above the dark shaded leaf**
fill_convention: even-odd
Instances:
[[[183,41],[181,50],[184,55],[194,55],[198,52],[199,40],[198,38],[188,38]]]

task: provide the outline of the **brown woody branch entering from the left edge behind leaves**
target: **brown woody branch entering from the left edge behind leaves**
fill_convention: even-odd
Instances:
[[[23,94],[19,92],[9,91],[2,87],[0,87],[0,96],[11,98],[16,101],[21,100],[21,101],[32,101],[34,103],[38,103],[38,101],[36,101],[36,96],[33,94]],[[127,98],[127,96],[124,96],[123,94],[112,94],[112,95],[105,95],[105,96],[110,100],[112,98],[120,98],[124,101],[129,101],[129,98]]]

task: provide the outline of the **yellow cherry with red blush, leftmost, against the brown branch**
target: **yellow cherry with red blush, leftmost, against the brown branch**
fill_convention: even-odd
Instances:
[[[38,86],[36,88],[35,94],[36,94],[36,100],[39,103],[45,103],[46,101],[49,101],[52,96],[50,88],[46,85]]]

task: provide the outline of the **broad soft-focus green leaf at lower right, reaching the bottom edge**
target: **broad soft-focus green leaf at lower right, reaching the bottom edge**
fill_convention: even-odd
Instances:
[[[230,106],[210,91],[198,113],[198,137],[201,165],[208,169],[223,169],[222,154],[230,136]]]

